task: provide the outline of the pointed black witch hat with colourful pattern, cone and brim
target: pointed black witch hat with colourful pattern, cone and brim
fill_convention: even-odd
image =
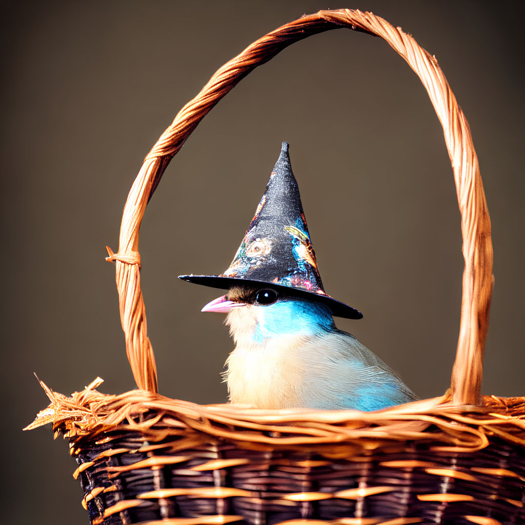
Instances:
[[[179,279],[221,289],[228,289],[238,281],[270,285],[288,296],[322,302],[334,316],[363,317],[361,312],[331,298],[323,289],[288,156],[288,142],[282,143],[265,194],[229,268],[220,275],[181,275]]]

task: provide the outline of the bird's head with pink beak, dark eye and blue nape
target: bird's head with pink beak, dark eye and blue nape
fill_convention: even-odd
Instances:
[[[335,328],[325,304],[287,295],[282,288],[271,286],[232,286],[202,311],[228,313],[226,324],[237,344],[261,344],[270,338],[308,336]]]

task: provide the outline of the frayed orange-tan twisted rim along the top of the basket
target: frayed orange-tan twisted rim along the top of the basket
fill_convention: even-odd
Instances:
[[[241,448],[353,444],[372,449],[385,441],[406,440],[430,442],[434,450],[459,453],[485,448],[489,436],[525,447],[525,397],[484,396],[480,405],[455,405],[445,394],[376,412],[263,410],[229,403],[199,405],[145,390],[103,394],[96,390],[102,382],[97,377],[67,397],[40,381],[50,404],[24,430],[53,423],[57,434],[72,442],[96,440],[106,432],[138,432],[146,441],[158,442],[183,432],[186,437],[190,433],[204,439],[211,436]],[[428,431],[430,427],[433,432]]]

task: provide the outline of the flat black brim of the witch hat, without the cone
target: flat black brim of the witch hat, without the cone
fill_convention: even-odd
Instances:
[[[256,281],[253,279],[242,279],[238,277],[221,277],[219,275],[180,275],[178,278],[188,282],[195,282],[197,285],[210,286],[222,290],[228,290],[230,286],[238,285],[239,282],[255,286],[261,285],[262,287],[269,286],[277,290],[282,290],[291,297],[299,297],[326,304],[332,310],[332,315],[335,317],[344,317],[346,319],[362,319],[363,317],[363,314],[359,310],[356,310],[337,299],[332,299],[328,295],[301,290],[300,288],[292,288],[285,285],[277,285],[275,282]]]

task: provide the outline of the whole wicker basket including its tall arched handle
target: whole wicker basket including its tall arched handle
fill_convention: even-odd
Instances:
[[[297,40],[348,27],[380,36],[419,76],[454,169],[465,271],[451,387],[379,412],[201,406],[156,393],[140,290],[138,232],[167,164],[236,83]],[[53,423],[78,463],[92,524],[226,522],[403,525],[525,523],[525,397],[480,396],[492,296],[490,220],[468,123],[434,57],[371,13],[320,11],[230,60],[177,114],[146,156],[122,217],[116,261],[128,358],[140,390],[93,381],[27,428]]]

